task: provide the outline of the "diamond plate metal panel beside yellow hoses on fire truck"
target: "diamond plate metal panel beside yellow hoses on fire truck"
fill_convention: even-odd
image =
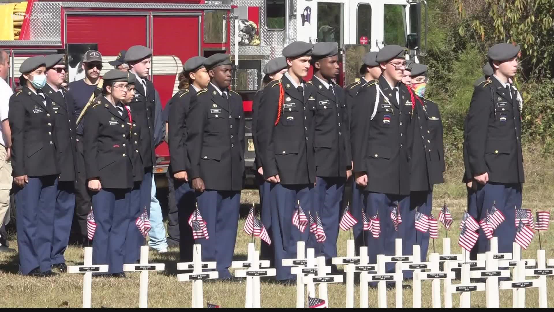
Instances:
[[[61,41],[59,2],[35,2],[29,21],[29,39]]]

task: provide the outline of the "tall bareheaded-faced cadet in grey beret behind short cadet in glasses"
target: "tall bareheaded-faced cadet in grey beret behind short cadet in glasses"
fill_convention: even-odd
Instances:
[[[124,61],[129,64],[129,72],[135,74],[136,79],[135,99],[129,106],[137,126],[141,128],[141,149],[139,149],[139,152],[144,167],[144,176],[141,183],[140,205],[142,209],[146,207],[148,215],[150,215],[152,169],[156,163],[154,147],[154,114],[156,110],[154,102],[156,90],[154,89],[154,84],[147,78],[152,61],[152,49],[144,46],[132,46],[127,49]]]

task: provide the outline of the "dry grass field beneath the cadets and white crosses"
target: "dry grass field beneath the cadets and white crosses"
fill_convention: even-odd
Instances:
[[[526,158],[529,162],[530,158]],[[526,165],[526,181],[523,191],[523,207],[535,210],[552,211],[552,199],[554,199],[554,172],[552,162],[542,159],[531,159],[532,164]],[[449,230],[451,248],[453,253],[460,253],[458,245],[458,226],[461,215],[466,209],[465,187],[460,183],[460,175],[456,174],[459,168],[449,168],[451,172],[444,184],[437,185],[434,190],[433,213],[438,217],[439,209],[444,203],[453,213],[454,224]],[[258,192],[245,190],[242,193],[242,215],[248,213],[252,203],[258,203]],[[259,211],[259,210],[257,210]],[[250,236],[246,235],[242,228],[244,218],[240,219],[237,233],[237,245],[235,258],[244,259],[247,253],[247,245]],[[546,250],[547,259],[554,258],[552,240],[554,229],[541,233],[542,248]],[[349,233],[342,232],[337,242],[338,255],[346,254],[346,240]],[[442,251],[442,238],[444,227],[439,223],[439,239],[435,241],[437,252]],[[16,236],[11,236],[11,247],[17,249]],[[260,240],[256,239],[256,247],[259,250]],[[522,258],[536,258],[538,249],[538,235],[531,246],[522,251]],[[429,254],[433,252],[430,241]],[[68,265],[83,264],[83,249],[78,246],[69,246],[66,251],[66,263]],[[150,273],[148,285],[148,306],[152,308],[183,308],[191,306],[191,283],[178,282],[176,277],[176,262],[178,249],[170,249],[167,254],[150,253],[151,263],[165,263],[166,271],[162,273]],[[342,270],[341,267],[339,267]],[[62,274],[55,278],[32,278],[17,275],[17,253],[0,253],[0,307],[30,308],[30,307],[71,307],[82,306],[83,276],[81,274]],[[459,283],[459,281],[454,281]],[[554,306],[554,296],[550,291],[554,286],[551,278],[548,283],[548,306]],[[409,283],[408,283],[409,284]],[[430,282],[423,282],[422,307],[431,306]],[[329,285],[329,305],[331,308],[343,307],[345,301],[346,284]],[[216,303],[223,308],[244,307],[245,283],[211,281],[204,283],[204,302]],[[355,306],[359,306],[360,289],[355,287]],[[394,291],[388,291],[388,306],[394,306]],[[403,291],[405,307],[412,306],[412,290]],[[261,283],[261,306],[263,308],[294,308],[296,304],[296,289],[294,286],[284,286],[273,283],[271,280]],[[377,290],[370,288],[369,305],[377,307]],[[92,306],[95,308],[137,308],[139,306],[139,273],[127,273],[126,279],[95,278],[93,279]],[[459,306],[459,295],[454,294],[453,306]],[[471,294],[471,306],[485,308],[485,292]],[[511,290],[500,290],[500,308],[512,306]],[[538,290],[526,290],[526,306],[538,307]]]

